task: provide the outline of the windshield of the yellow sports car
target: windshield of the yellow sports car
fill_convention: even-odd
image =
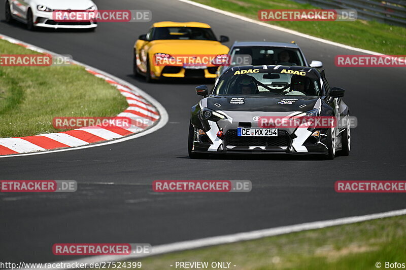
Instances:
[[[217,41],[212,29],[199,27],[157,27],[152,39]]]

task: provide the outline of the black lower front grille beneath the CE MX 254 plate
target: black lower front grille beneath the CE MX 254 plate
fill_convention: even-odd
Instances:
[[[284,130],[278,131],[278,136],[276,137],[248,137],[248,136],[237,136],[237,130],[232,129],[227,131],[225,136],[227,145],[233,146],[289,146],[290,137],[289,134]]]

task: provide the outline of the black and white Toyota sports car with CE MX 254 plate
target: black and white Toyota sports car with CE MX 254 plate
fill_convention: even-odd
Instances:
[[[351,133],[344,89],[316,68],[234,66],[192,107],[190,158],[207,153],[319,153],[348,156]]]

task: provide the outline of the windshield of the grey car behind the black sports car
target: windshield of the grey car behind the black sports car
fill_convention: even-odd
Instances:
[[[298,49],[280,47],[234,47],[231,59],[234,55],[250,55],[252,65],[287,65],[304,66],[306,63]],[[233,63],[231,63],[232,65]]]

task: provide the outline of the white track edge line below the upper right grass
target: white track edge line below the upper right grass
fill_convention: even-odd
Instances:
[[[325,43],[325,44],[328,44],[328,45],[344,48],[344,49],[347,49],[347,50],[352,50],[352,51],[366,53],[366,54],[373,54],[373,55],[383,55],[383,53],[377,53],[377,52],[373,52],[373,51],[368,51],[368,50],[364,50],[364,49],[360,49],[360,48],[351,47],[351,46],[344,45],[344,44],[341,44],[341,43],[324,40],[323,38],[320,38],[320,37],[315,37],[315,36],[312,36],[312,35],[303,34],[303,33],[288,29],[288,28],[283,28],[283,27],[280,27],[280,26],[276,26],[276,25],[256,21],[256,20],[249,19],[249,18],[241,16],[241,15],[237,15],[237,14],[234,14],[234,13],[231,13],[231,12],[228,12],[228,11],[219,10],[219,9],[216,9],[216,8],[212,8],[212,7],[209,7],[209,6],[200,4],[200,3],[196,3],[196,2],[193,2],[193,1],[189,1],[189,0],[176,0],[176,1],[187,3],[187,4],[190,4],[190,5],[202,8],[202,9],[217,12],[217,13],[220,13],[222,15],[233,17],[233,18],[236,18],[236,19],[239,19],[239,20],[255,23],[255,24],[258,24],[258,25],[261,25],[261,26],[272,28],[274,30],[282,31],[282,32],[289,33],[289,34],[294,34],[294,35],[297,35],[297,36],[308,38],[309,40],[318,41],[318,42],[321,42],[321,43]]]

